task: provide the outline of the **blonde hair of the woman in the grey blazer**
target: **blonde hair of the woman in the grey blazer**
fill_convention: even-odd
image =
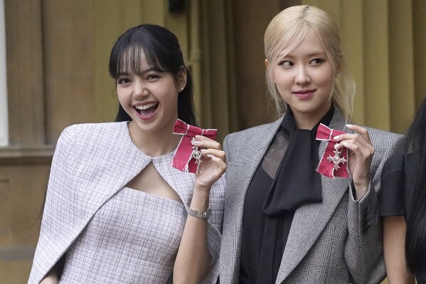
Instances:
[[[346,72],[341,53],[339,28],[329,14],[314,6],[291,6],[282,10],[272,19],[265,31],[265,57],[269,66],[274,66],[279,53],[291,52],[312,30],[316,33],[326,52],[334,73],[334,88],[331,101],[350,121],[355,95],[355,83]],[[339,79],[337,79],[339,75]],[[275,101],[277,115],[282,115],[287,104],[282,100],[275,86],[272,68],[266,70],[268,93]]]

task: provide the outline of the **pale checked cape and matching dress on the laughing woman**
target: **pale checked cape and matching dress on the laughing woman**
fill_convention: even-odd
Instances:
[[[171,167],[172,157],[173,153],[154,158],[142,153],[134,146],[129,136],[127,122],[67,127],[60,135],[53,157],[41,232],[28,283],[39,283],[64,253],[70,253],[71,264],[74,261],[75,263],[92,261],[88,255],[93,251],[100,253],[99,256],[103,254],[105,259],[122,257],[115,263],[118,263],[117,265],[99,263],[96,267],[91,267],[93,275],[90,276],[90,281],[82,283],[117,283],[117,281],[114,282],[117,275],[124,274],[129,279],[134,277],[150,279],[152,271],[163,269],[167,273],[170,257],[176,255],[176,238],[179,238],[182,222],[185,219],[184,209],[189,206],[193,191],[193,174],[180,172]],[[142,192],[137,192],[139,194],[137,198],[142,200],[129,201],[135,193],[129,196],[129,192],[126,192],[129,189],[123,189],[124,186],[150,162],[171,188],[179,194],[183,204],[171,205],[169,201],[151,199],[151,196],[141,197]],[[212,216],[208,219],[208,248],[212,255],[212,263],[211,273],[203,283],[215,283],[218,278],[224,185],[223,177],[213,184],[211,189]],[[123,211],[110,212],[126,208],[127,215]],[[172,223],[161,222],[162,226],[157,226],[153,216],[149,214],[164,214],[166,208],[175,214],[171,217]],[[118,216],[118,212],[124,215]],[[147,216],[137,216],[138,212]],[[131,220],[125,220],[127,217],[141,222],[135,229],[146,230],[144,233],[139,233],[140,239],[136,240],[136,237],[131,235],[124,236],[124,231],[122,233],[114,231],[119,230],[118,228],[124,229],[126,224],[131,222]],[[159,218],[164,221],[164,216]],[[113,228],[112,223],[117,223],[118,228]],[[95,231],[98,232],[96,236],[93,235]],[[144,236],[153,233],[161,234],[161,236],[159,236],[159,243],[156,247],[151,247],[152,251],[150,251],[151,243],[149,240],[144,240]],[[102,247],[105,243],[100,242],[98,246],[89,246],[86,243],[89,238],[95,238],[95,240],[105,238],[105,243],[113,247],[108,251],[102,251],[105,249]],[[125,241],[131,243],[124,245]],[[165,246],[165,241],[169,241],[170,246]],[[132,251],[120,254],[120,248],[132,249]],[[160,248],[170,248],[171,251],[166,253],[171,256],[163,256],[164,252],[156,251]],[[81,253],[78,256],[76,253],[73,255],[77,251]],[[147,262],[135,264],[137,267],[134,268],[124,268],[123,263],[132,262],[134,257],[145,258]],[[164,262],[161,262],[163,260]],[[126,269],[132,270],[132,273],[134,269],[138,269],[139,275],[134,276],[128,271],[123,272]],[[67,268],[65,272],[68,273]],[[75,273],[84,272],[76,271]],[[69,275],[75,273],[70,272]],[[112,274],[117,275],[112,276]],[[138,283],[129,279],[119,283]],[[69,283],[78,282],[70,280]]]

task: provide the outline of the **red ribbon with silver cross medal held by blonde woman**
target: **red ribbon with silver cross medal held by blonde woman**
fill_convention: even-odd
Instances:
[[[319,125],[318,130],[316,130],[316,140],[325,140],[329,141],[326,146],[326,151],[319,162],[318,167],[316,167],[316,172],[323,174],[326,177],[349,177],[348,174],[348,148],[344,147],[339,152],[334,149],[334,145],[339,143],[334,140],[334,137],[338,135],[346,134],[346,132],[341,132],[339,130],[332,130],[322,123]],[[335,164],[334,161],[339,162]]]

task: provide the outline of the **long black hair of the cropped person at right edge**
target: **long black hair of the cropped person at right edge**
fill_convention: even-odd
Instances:
[[[426,268],[426,99],[405,136],[404,153],[412,165],[409,180],[414,181],[410,214],[405,216],[405,256],[415,273]]]

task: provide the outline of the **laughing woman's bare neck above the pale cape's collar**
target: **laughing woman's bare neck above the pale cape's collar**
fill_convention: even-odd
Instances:
[[[167,131],[169,129],[170,131]],[[129,133],[133,144],[149,157],[169,154],[176,149],[181,140],[180,135],[173,134],[173,125],[166,127],[166,131],[142,132],[134,122],[130,122]]]

